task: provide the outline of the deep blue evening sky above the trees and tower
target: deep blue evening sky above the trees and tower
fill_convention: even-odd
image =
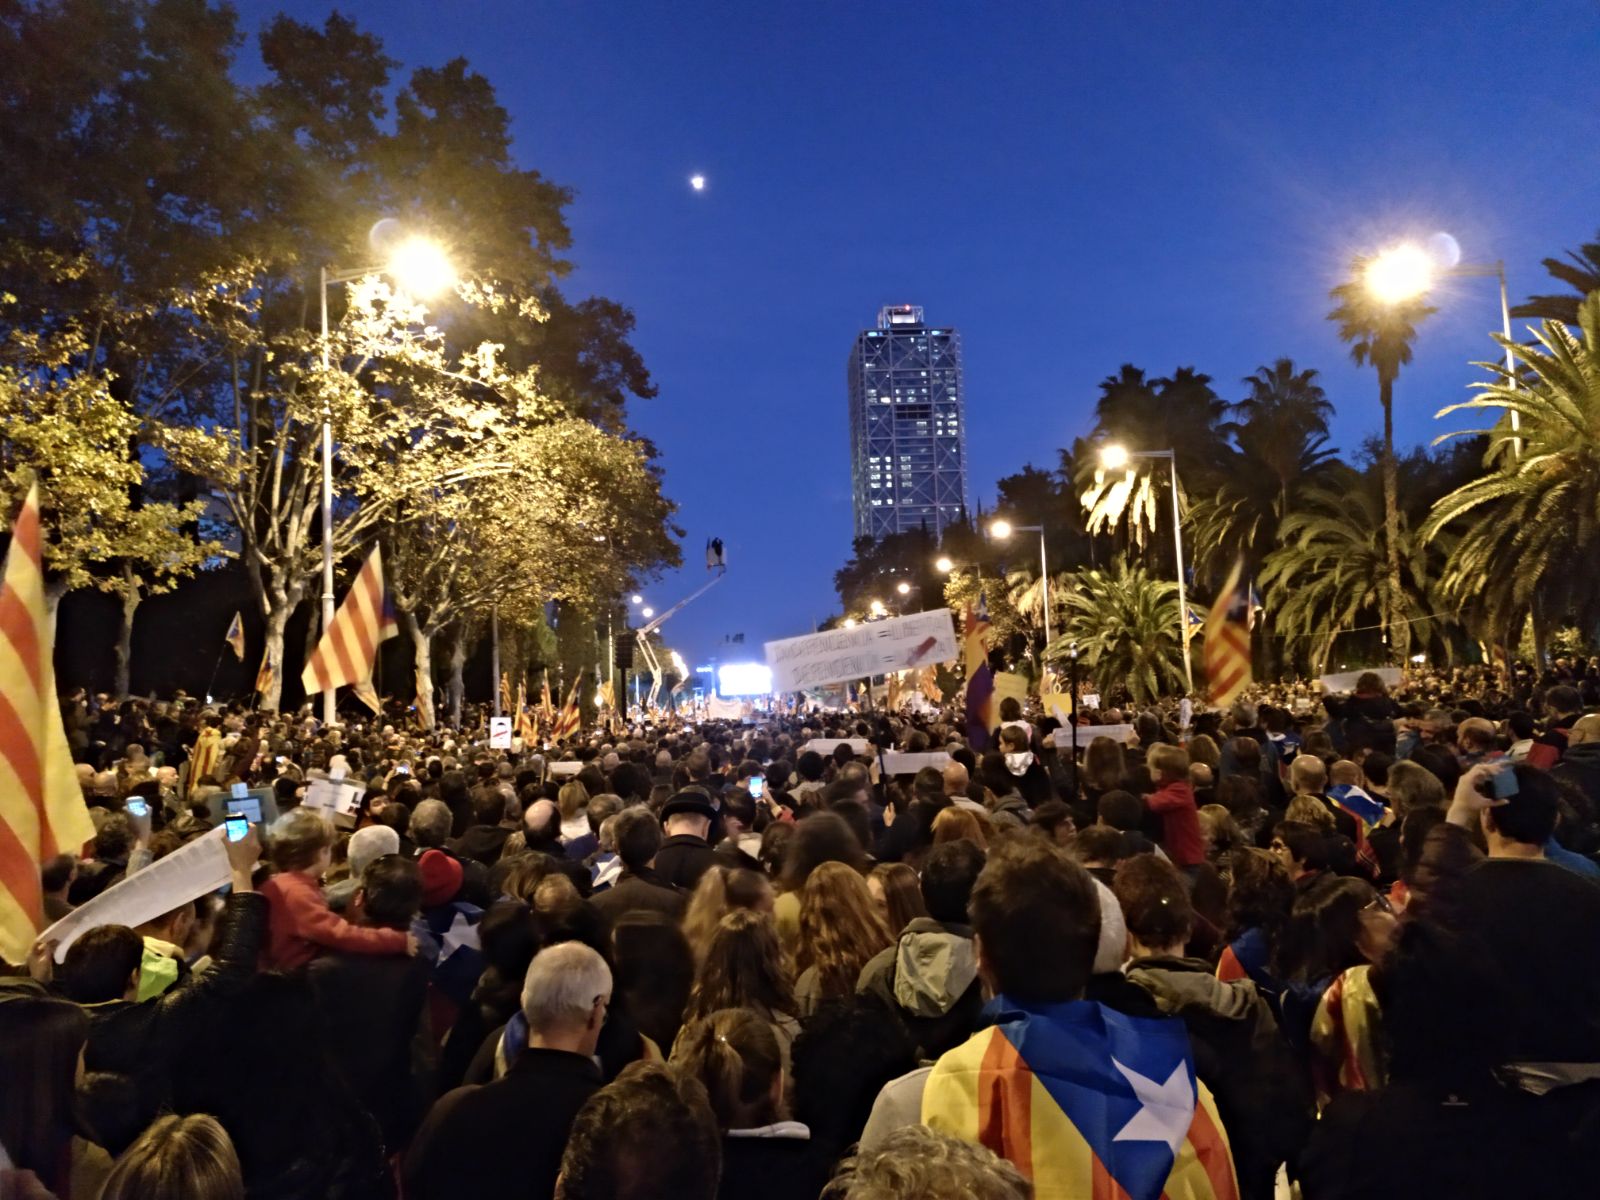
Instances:
[[[246,32],[286,8],[243,3]],[[1539,259],[1600,227],[1600,8],[1342,5],[346,5],[405,67],[466,56],[517,154],[578,192],[578,272],[638,317],[688,566],[658,608],[691,662],[760,658],[837,608],[850,550],[845,357],[882,304],[962,331],[968,486],[1088,432],[1123,362],[1227,398],[1290,355],[1323,374],[1347,453],[1379,429],[1370,370],[1325,320],[1354,251],[1453,234]],[[1042,11],[1053,10],[1053,11]],[[253,51],[251,51],[253,53]],[[688,179],[707,176],[704,192]],[[1438,298],[1397,389],[1398,438],[1496,347],[1493,280]],[[720,648],[726,634],[742,648]]]

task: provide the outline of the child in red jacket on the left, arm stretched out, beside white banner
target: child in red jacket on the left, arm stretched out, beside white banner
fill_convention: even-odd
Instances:
[[[267,949],[262,970],[290,971],[323,950],[416,954],[416,941],[398,930],[350,925],[328,907],[322,877],[333,859],[333,827],[312,808],[294,808],[272,827],[272,866],[261,886],[267,898]]]

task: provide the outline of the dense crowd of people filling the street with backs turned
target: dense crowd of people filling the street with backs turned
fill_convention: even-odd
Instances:
[[[499,750],[72,696],[48,918],[203,837],[230,883],[8,965],[0,1192],[1579,1195],[1589,707],[1595,664],[1363,675],[1074,757],[1014,699]]]

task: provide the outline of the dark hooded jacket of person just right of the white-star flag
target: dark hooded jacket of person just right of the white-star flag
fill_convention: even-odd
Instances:
[[[1222,982],[1200,958],[1138,958],[1126,973],[1163,1014],[1187,1026],[1195,1074],[1227,1130],[1242,1200],[1272,1200],[1278,1163],[1293,1163],[1310,1134],[1312,1096],[1267,1002],[1248,979]]]

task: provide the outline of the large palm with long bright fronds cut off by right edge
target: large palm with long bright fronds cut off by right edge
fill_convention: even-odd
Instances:
[[[1422,536],[1459,531],[1445,568],[1448,592],[1482,605],[1494,640],[1507,645],[1531,618],[1542,650],[1563,618],[1584,629],[1600,624],[1590,570],[1600,554],[1600,293],[1579,306],[1576,331],[1547,320],[1534,338],[1509,344],[1515,374],[1478,363],[1493,378],[1440,413],[1512,410],[1522,427],[1499,419],[1475,430],[1488,437],[1488,472],[1443,496]]]

